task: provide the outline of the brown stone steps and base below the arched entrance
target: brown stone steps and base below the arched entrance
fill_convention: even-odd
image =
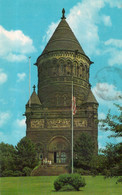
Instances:
[[[40,165],[31,172],[31,176],[58,176],[69,173],[68,165]]]

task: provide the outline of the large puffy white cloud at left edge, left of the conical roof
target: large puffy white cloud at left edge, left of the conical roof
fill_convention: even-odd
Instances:
[[[0,26],[0,57],[8,61],[26,60],[26,55],[35,52],[33,41],[21,30],[7,31]]]

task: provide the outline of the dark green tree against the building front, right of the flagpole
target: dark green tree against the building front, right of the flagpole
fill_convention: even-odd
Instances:
[[[87,133],[82,133],[74,145],[74,166],[89,170],[91,161],[95,154],[95,143],[92,137]]]

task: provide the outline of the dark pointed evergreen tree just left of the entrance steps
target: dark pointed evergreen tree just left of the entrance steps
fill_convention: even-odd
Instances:
[[[30,139],[22,138],[15,148],[18,171],[23,172],[25,167],[33,169],[37,165],[35,144]]]

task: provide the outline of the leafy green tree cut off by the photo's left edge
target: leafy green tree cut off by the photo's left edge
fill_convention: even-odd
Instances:
[[[15,148],[12,145],[0,143],[0,175],[8,176],[15,170]]]

